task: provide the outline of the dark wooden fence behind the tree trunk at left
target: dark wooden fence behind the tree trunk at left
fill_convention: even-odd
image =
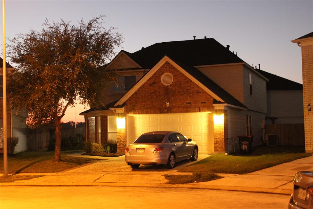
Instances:
[[[79,128],[62,128],[61,137],[74,137],[76,134],[85,137],[85,127]],[[49,127],[41,127],[40,129],[27,129],[27,150],[28,151],[47,151],[49,141],[55,138],[55,129]]]

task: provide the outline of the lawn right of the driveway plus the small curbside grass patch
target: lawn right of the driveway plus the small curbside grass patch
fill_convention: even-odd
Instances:
[[[165,177],[170,181],[169,184],[209,181],[219,178],[213,175],[216,173],[247,174],[298,158],[308,157],[311,154],[304,153],[303,147],[258,147],[250,155],[240,155],[238,153],[233,155],[214,154],[178,170],[179,172],[192,172],[193,175],[176,175],[175,177],[165,175]],[[176,179],[173,180],[174,178]]]

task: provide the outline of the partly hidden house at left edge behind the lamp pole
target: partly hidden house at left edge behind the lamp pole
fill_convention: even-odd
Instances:
[[[14,71],[14,68],[6,62],[7,75]],[[3,141],[3,59],[0,58],[0,128],[1,142]],[[8,83],[7,83],[8,84]],[[18,137],[18,144],[15,147],[15,152],[22,152],[27,149],[26,137],[26,113],[16,113],[11,110],[11,104],[7,97],[7,122],[8,122],[8,137]],[[1,143],[3,149],[3,143]]]

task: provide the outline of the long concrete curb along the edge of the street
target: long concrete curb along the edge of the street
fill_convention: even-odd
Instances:
[[[151,187],[151,188],[181,188],[181,189],[206,189],[206,190],[227,190],[227,191],[243,191],[255,193],[268,193],[291,195],[292,190],[260,188],[260,187],[240,187],[240,186],[221,186],[221,185],[198,185],[191,184],[147,184],[147,183],[94,183],[94,182],[13,182],[0,183],[0,186],[116,186],[116,187]]]

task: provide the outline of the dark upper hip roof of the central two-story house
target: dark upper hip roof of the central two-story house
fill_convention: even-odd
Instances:
[[[156,43],[127,53],[145,69],[151,69],[165,55],[190,66],[244,62],[213,38]]]

